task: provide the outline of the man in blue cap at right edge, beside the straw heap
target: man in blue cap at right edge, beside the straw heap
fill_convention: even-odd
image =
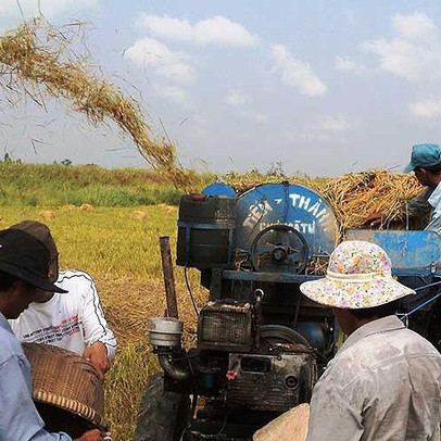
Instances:
[[[441,150],[438,144],[421,143],[412,149],[411,162],[405,173],[415,173],[421,186],[427,187],[418,196],[407,201],[402,210],[403,216],[421,218],[429,215],[426,230],[441,235]],[[383,213],[373,213],[365,222],[368,227],[378,227]]]

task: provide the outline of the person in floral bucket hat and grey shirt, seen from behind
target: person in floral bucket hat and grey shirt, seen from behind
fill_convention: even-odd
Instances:
[[[342,242],[300,287],[349,336],[314,388],[307,441],[440,440],[441,355],[394,315],[415,294],[378,245]]]

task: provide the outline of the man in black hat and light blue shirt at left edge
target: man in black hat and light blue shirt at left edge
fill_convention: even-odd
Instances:
[[[43,429],[32,399],[32,373],[8,323],[35,300],[38,289],[66,292],[48,278],[49,252],[25,231],[0,231],[0,441],[72,441]],[[110,433],[89,430],[77,441],[102,441]]]

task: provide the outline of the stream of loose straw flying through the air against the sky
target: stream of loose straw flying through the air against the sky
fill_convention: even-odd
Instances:
[[[189,188],[194,175],[178,165],[174,147],[151,138],[136,100],[92,73],[86,60],[70,49],[66,29],[55,30],[45,21],[34,20],[0,37],[0,81],[4,90],[23,91],[41,105],[45,94],[66,99],[93,125],[113,119],[129,134],[154,169],[177,187]]]

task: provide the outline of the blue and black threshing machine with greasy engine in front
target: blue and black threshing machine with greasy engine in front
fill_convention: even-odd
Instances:
[[[323,277],[343,238],[386,249],[395,276],[418,291],[403,302],[403,320],[439,344],[439,302],[433,305],[441,242],[434,232],[341,231],[329,203],[310,188],[264,184],[237,196],[215,184],[184,196],[179,205],[177,264],[198,268],[210,291],[197,344],[181,346],[181,322],[152,319],[163,374],[149,380],[136,439],[248,441],[270,419],[308,402],[339,331],[331,312],[299,286]]]

